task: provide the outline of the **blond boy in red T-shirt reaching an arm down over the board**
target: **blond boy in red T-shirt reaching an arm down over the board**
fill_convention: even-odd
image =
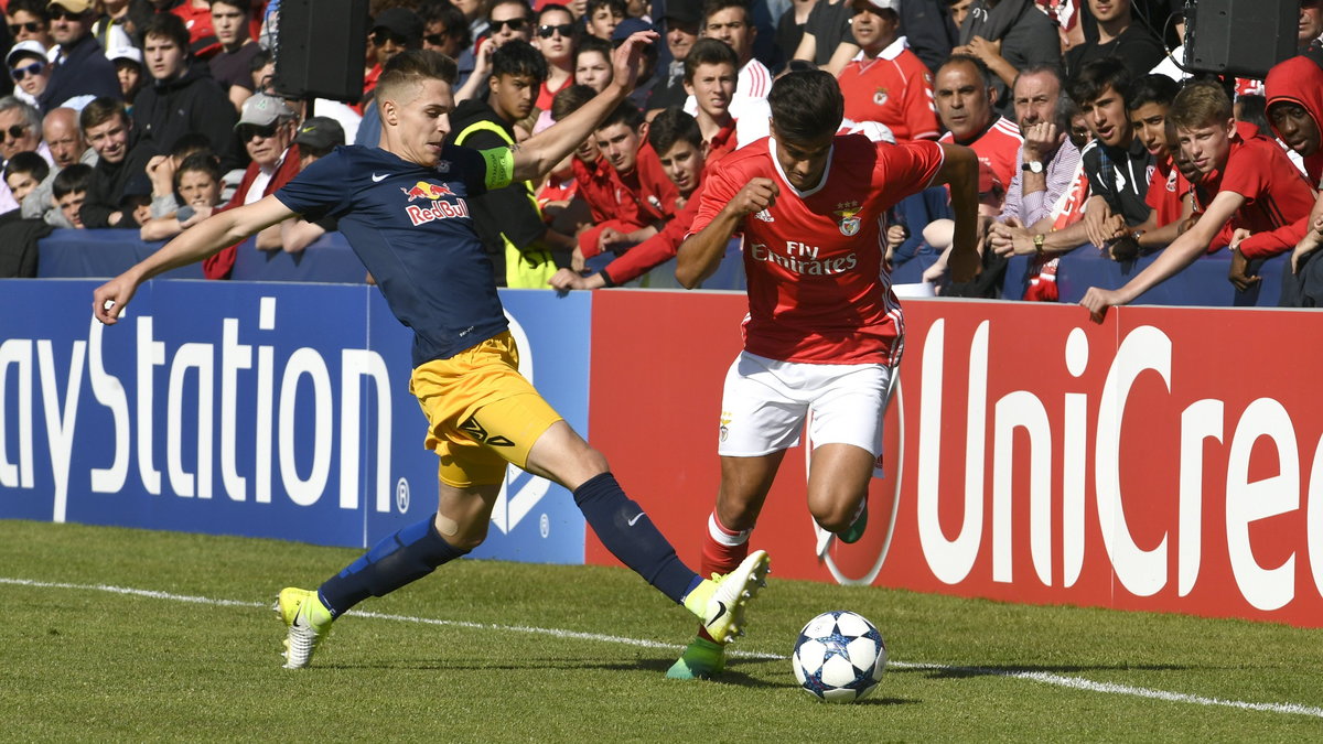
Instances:
[[[1252,233],[1232,246],[1234,273],[1240,261],[1293,249],[1303,234],[1301,220],[1314,207],[1314,189],[1275,142],[1237,131],[1230,98],[1216,83],[1199,82],[1181,90],[1171,118],[1181,150],[1203,173],[1196,185],[1215,196],[1199,221],[1123,287],[1089,287],[1080,304],[1094,322],[1101,323],[1109,307],[1134,302],[1203,256],[1228,220]],[[1299,228],[1293,225],[1297,221]]]

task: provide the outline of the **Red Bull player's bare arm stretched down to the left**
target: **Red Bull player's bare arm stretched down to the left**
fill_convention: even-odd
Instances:
[[[292,216],[295,213],[274,196],[266,196],[261,201],[235,209],[217,212],[180,233],[177,238],[161,246],[160,250],[136,266],[97,287],[97,291],[93,293],[91,314],[102,323],[114,326],[128,301],[134,298],[138,286],[147,279],[171,269],[196,263],[228,245],[234,245],[253,233]]]

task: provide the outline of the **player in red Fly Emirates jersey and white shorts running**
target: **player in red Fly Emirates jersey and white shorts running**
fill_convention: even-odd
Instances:
[[[676,278],[695,287],[717,269],[730,237],[744,233],[749,318],[744,352],[725,381],[721,488],[708,519],[704,573],[729,571],[747,553],[777,469],[810,412],[808,511],[845,541],[861,535],[905,332],[882,265],[885,212],[950,184],[951,270],[968,281],[979,265],[974,152],[837,136],[844,101],[826,71],[790,73],[767,101],[773,135],[706,175],[677,256]],[[724,666],[724,646],[700,634],[667,674],[705,678]]]

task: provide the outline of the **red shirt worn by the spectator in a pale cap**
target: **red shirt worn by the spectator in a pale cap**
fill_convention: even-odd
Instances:
[[[860,52],[836,79],[845,97],[847,119],[881,122],[897,140],[937,138],[933,74],[904,41],[872,60]]]

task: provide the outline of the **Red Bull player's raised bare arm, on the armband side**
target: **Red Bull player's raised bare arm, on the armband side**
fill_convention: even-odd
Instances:
[[[654,30],[640,30],[626,38],[613,57],[615,77],[611,85],[569,116],[524,140],[515,151],[516,181],[540,180],[593,134],[597,124],[634,90],[643,64],[643,48],[656,38]]]

